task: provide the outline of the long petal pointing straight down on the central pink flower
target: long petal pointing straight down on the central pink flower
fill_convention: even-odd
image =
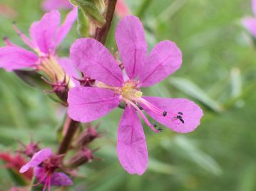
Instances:
[[[148,150],[140,119],[133,107],[126,107],[118,128],[118,159],[130,174],[142,175],[148,167]]]

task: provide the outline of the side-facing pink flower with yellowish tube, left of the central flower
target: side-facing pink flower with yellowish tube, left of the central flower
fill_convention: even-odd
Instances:
[[[70,60],[58,58],[55,52],[56,46],[66,37],[73,22],[76,21],[76,16],[77,10],[73,9],[59,26],[61,15],[58,11],[44,14],[40,21],[32,23],[29,29],[31,39],[14,26],[24,43],[34,52],[14,45],[8,38],[5,38],[6,46],[0,48],[0,67],[8,71],[34,68],[44,72],[51,80],[55,78],[63,80],[65,77],[63,70],[68,75],[76,76]]]

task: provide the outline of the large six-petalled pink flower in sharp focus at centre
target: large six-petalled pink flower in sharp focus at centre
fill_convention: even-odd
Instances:
[[[118,129],[118,158],[128,173],[142,175],[148,166],[148,151],[137,114],[153,131],[158,130],[141,109],[155,121],[180,133],[193,131],[200,124],[203,111],[188,99],[145,97],[140,91],[140,87],[156,84],[178,70],[182,54],[175,43],[164,40],[147,57],[143,26],[135,16],[126,16],[118,23],[116,42],[126,69],[124,74],[98,41],[82,38],[71,46],[73,63],[97,81],[95,87],[74,87],[68,92],[68,114],[76,121],[87,123],[124,102],[126,109]]]

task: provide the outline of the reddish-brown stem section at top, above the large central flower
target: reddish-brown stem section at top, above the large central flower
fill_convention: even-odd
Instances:
[[[101,42],[103,45],[106,43],[108,31],[111,28],[113,15],[116,8],[116,1],[117,0],[108,0],[108,7],[106,11],[106,23],[102,28],[96,29],[95,39]]]

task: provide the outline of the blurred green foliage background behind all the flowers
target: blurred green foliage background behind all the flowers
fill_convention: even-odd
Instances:
[[[101,119],[104,137],[91,144],[101,146],[94,160],[79,171],[81,178],[69,190],[256,190],[256,50],[240,19],[252,15],[250,0],[145,0],[126,1],[140,16],[149,48],[170,39],[183,52],[183,66],[174,75],[145,94],[186,97],[204,111],[193,133],[164,129],[155,134],[144,126],[150,163],[139,177],[128,175],[116,156],[116,131],[121,109]],[[1,0],[14,9],[11,16],[0,12],[0,36],[8,35],[23,45],[11,21],[28,34],[31,22],[43,14],[39,0]],[[16,12],[16,13],[15,13]],[[63,11],[63,16],[66,11]],[[116,47],[113,31],[108,47]],[[76,27],[58,50],[68,55]],[[4,43],[1,41],[0,45]],[[56,132],[64,109],[41,89],[29,87],[14,73],[0,70],[0,148],[17,148],[16,140],[28,143],[31,136],[41,146],[56,148]],[[0,170],[0,190],[14,185],[7,170]]]

